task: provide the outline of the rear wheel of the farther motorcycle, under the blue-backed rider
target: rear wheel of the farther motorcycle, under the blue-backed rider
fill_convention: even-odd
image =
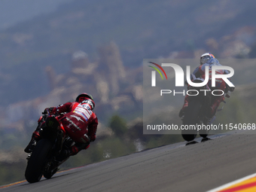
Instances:
[[[202,103],[199,100],[192,100],[186,108],[183,125],[196,125]],[[197,137],[197,130],[181,130],[181,136],[187,142],[193,141]]]

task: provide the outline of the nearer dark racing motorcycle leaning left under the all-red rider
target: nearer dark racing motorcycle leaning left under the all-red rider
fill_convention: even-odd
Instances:
[[[29,183],[40,181],[44,178],[51,178],[58,170],[58,166],[66,160],[56,160],[60,151],[75,145],[75,142],[66,134],[59,118],[62,115],[50,115],[49,110],[43,112],[45,126],[40,130],[41,139],[36,143],[32,153],[27,157],[25,178]]]

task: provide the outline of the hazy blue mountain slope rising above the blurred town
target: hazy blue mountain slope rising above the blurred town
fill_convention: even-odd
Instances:
[[[47,95],[46,66],[56,74],[68,72],[76,50],[93,61],[99,58],[98,48],[110,41],[120,47],[126,68],[141,66],[143,58],[173,56],[177,51],[180,58],[194,57],[197,50],[223,57],[247,55],[255,41],[255,23],[249,21],[255,4],[248,0],[242,6],[238,0],[212,5],[203,0],[76,0],[62,5],[0,32],[0,88],[5,90],[0,105]],[[239,29],[245,29],[242,35],[236,35]],[[230,50],[237,46],[242,50]],[[224,50],[227,53],[221,54]]]

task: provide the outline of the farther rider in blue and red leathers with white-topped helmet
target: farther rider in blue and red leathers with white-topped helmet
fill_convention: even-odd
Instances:
[[[193,81],[195,78],[205,78],[205,68],[206,66],[209,66],[209,82],[208,86],[211,90],[223,90],[224,93],[227,93],[228,91],[233,91],[233,87],[229,87],[222,79],[216,80],[216,86],[212,87],[212,75],[211,75],[211,68],[212,66],[221,66],[221,64],[218,62],[218,59],[215,59],[215,56],[212,55],[212,53],[204,53],[200,58],[200,66],[197,67],[197,69],[194,70],[194,72],[190,75],[191,80]],[[227,70],[216,70],[216,74],[228,74]],[[186,82],[187,84],[187,82]],[[187,84],[188,85],[188,84]],[[209,108],[209,111],[207,111],[206,117],[211,119],[216,111],[220,103],[224,101],[224,96],[213,96],[213,101],[211,103],[211,106]],[[178,116],[182,117],[184,115],[184,111],[188,106],[188,95],[185,96],[184,99],[184,105],[181,108],[181,111],[179,112]]]

